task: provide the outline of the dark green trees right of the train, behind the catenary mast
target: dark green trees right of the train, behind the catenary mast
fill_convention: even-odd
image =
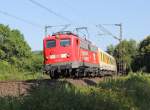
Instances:
[[[130,71],[150,73],[150,36],[139,43],[133,39],[123,40],[116,46],[108,46],[107,52],[116,58],[117,64],[123,62],[123,69],[127,73]]]

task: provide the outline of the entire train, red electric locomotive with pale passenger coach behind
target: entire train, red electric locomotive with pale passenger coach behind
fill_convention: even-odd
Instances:
[[[70,31],[43,40],[44,70],[52,79],[95,77],[117,73],[113,56]]]

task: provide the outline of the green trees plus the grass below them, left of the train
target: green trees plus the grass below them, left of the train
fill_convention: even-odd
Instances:
[[[31,51],[19,30],[0,24],[0,80],[37,79],[42,65],[41,51]]]

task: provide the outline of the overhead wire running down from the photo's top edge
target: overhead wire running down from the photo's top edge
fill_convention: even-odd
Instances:
[[[58,18],[60,18],[60,19],[62,19],[62,20],[64,20],[64,21],[67,21],[67,22],[69,22],[69,23],[72,23],[72,21],[71,21],[69,18],[67,18],[67,17],[65,17],[65,16],[63,16],[63,15],[61,15],[61,14],[59,14],[59,13],[56,13],[55,11],[53,11],[52,9],[50,9],[50,8],[48,8],[48,7],[44,6],[44,5],[42,5],[41,3],[36,2],[35,0],[29,0],[29,1],[30,1],[31,3],[37,5],[38,7],[40,7],[40,8],[42,8],[42,9],[48,11],[49,13],[51,13],[51,14],[57,16]]]

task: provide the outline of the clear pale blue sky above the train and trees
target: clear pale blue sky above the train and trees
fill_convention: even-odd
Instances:
[[[99,36],[98,34],[103,33],[96,27],[98,24],[122,23],[123,39],[135,39],[139,42],[150,35],[150,0],[35,1],[59,16],[33,4],[30,0],[0,0],[0,12],[4,11],[36,24],[25,23],[0,13],[0,24],[19,29],[33,51],[43,49],[45,25],[71,24],[73,27],[88,27],[89,39],[104,50],[110,44],[116,45],[118,41],[110,35]],[[104,27],[115,36],[119,36],[119,27]],[[59,30],[56,28],[48,31],[51,33],[57,29]]]

